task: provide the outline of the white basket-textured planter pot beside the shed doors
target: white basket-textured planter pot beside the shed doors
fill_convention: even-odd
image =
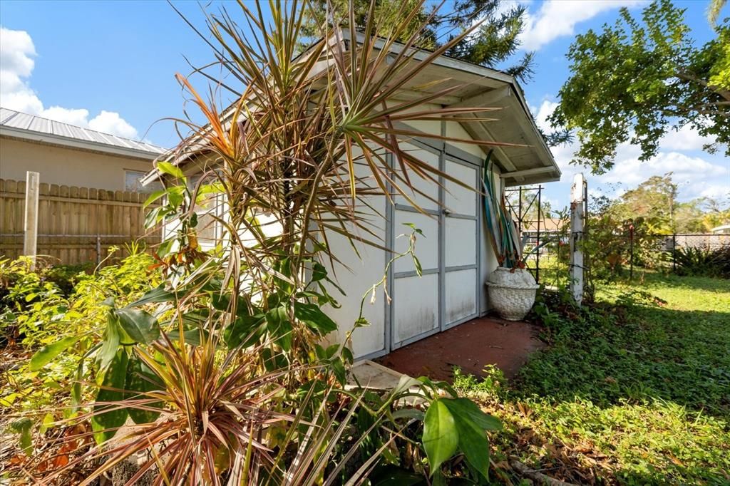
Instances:
[[[539,288],[528,270],[502,266],[489,274],[486,285],[489,305],[506,320],[523,320],[532,309]]]

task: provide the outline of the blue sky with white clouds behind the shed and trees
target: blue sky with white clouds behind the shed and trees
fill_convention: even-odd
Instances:
[[[523,84],[526,98],[544,123],[559,88],[569,76],[564,55],[575,34],[613,23],[619,7],[638,14],[640,0],[520,1],[529,9],[523,46],[537,52],[536,74]],[[676,1],[676,0],[675,0]],[[688,25],[697,42],[712,31],[704,11],[707,0],[677,1],[687,8]],[[204,27],[200,6],[177,1],[177,8]],[[234,7],[235,8],[235,7]],[[730,7],[722,12],[730,15]],[[171,146],[178,140],[164,117],[183,116],[184,97],[174,74],[212,61],[210,47],[164,1],[12,1],[0,2],[0,104]],[[602,193],[617,194],[653,174],[675,172],[680,198],[729,199],[730,161],[709,155],[705,142],[684,130],[667,137],[657,158],[637,161],[635,147],[621,147],[616,169],[601,177],[588,175]],[[567,162],[575,147],[553,150],[564,171],[546,195],[553,207],[564,206],[572,174]]]

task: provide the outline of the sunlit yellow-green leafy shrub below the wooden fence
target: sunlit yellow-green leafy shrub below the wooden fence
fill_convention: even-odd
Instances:
[[[82,266],[31,271],[28,258],[0,261],[2,345],[16,344],[15,352],[28,355],[69,344],[46,366],[31,369],[22,361],[13,363],[0,392],[0,409],[20,412],[63,404],[74,380],[93,378],[91,369],[78,374],[77,366],[104,334],[109,312],[105,299],[126,304],[158,285],[159,276],[149,269],[153,263],[139,248],[118,266],[94,274],[75,274]],[[73,287],[64,292],[65,285]]]

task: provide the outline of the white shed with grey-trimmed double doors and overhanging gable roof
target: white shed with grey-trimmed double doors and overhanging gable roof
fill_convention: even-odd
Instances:
[[[393,47],[397,52],[399,47]],[[427,54],[423,53],[423,57]],[[419,54],[416,60],[421,60]],[[380,293],[374,304],[365,305],[370,325],[353,333],[352,347],[356,358],[374,358],[440,331],[464,323],[488,311],[485,279],[497,266],[496,256],[483,228],[481,190],[482,171],[488,147],[475,144],[445,144],[429,134],[453,136],[458,139],[508,142],[519,147],[495,147],[494,176],[502,188],[528,185],[560,179],[560,169],[542,139],[529,112],[522,90],[515,79],[502,72],[475,66],[442,56],[423,70],[401,90],[395,100],[423,96],[429,81],[444,80],[434,90],[460,86],[448,96],[433,100],[434,107],[499,107],[490,112],[491,121],[434,121],[408,123],[423,136],[401,142],[420,160],[436,166],[458,180],[471,185],[468,190],[449,181],[443,188],[416,180],[415,185],[434,201],[419,194],[413,198],[426,214],[407,203],[401,196],[389,204],[385,196],[372,198],[368,209],[372,223],[383,246],[402,252],[407,241],[397,236],[409,233],[404,223],[412,223],[423,231],[416,244],[416,255],[422,266],[419,277],[410,258],[394,263],[387,275],[390,304]],[[420,106],[419,110],[427,107]],[[480,115],[483,118],[484,115]],[[195,164],[191,164],[194,166]],[[185,169],[192,171],[194,169]],[[147,180],[152,180],[150,174]],[[379,214],[378,214],[379,213]],[[384,216],[384,217],[383,217]],[[347,294],[339,296],[339,309],[326,309],[340,326],[340,336],[351,328],[358,316],[361,299],[372,285],[383,278],[385,267],[393,253],[365,244],[358,248],[361,258],[353,252],[350,242],[339,234],[328,237],[331,250],[341,260],[330,269]]]

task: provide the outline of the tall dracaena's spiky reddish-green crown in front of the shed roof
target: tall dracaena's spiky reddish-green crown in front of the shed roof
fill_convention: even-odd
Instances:
[[[458,86],[423,90],[423,96],[411,101],[393,101],[393,95],[412,87],[424,69],[469,34],[465,31],[433,52],[418,50],[415,46],[429,23],[423,19],[413,31],[422,3],[404,4],[401,22],[388,31],[378,31],[372,21],[362,32],[332,30],[331,25],[341,22],[331,19],[321,26],[322,40],[300,55],[307,4],[271,2],[272,21],[267,22],[258,3],[252,11],[240,2],[250,33],[225,10],[208,18],[215,39],[211,45],[225,78],[244,89],[237,92],[231,82],[220,82],[237,96],[234,104],[221,110],[213,96],[205,100],[179,76],[206,125],[185,121],[195,135],[180,144],[176,157],[204,159],[207,176],[220,182],[228,212],[220,223],[233,250],[226,262],[230,278],[225,284],[234,291],[244,285],[237,278],[242,274],[255,284],[256,292],[263,293],[256,298],[264,302],[272,277],[302,288],[302,270],[315,253],[337,260],[328,250],[328,234],[342,234],[353,243],[381,243],[365,216],[373,196],[399,194],[418,207],[413,202],[418,193],[415,178],[434,184],[439,177],[453,180],[401,149],[404,139],[423,134],[399,123],[458,120],[460,115],[491,108],[419,109]],[[374,5],[373,1],[371,9]],[[352,9],[349,15],[354,15]],[[352,19],[344,23],[356,24]],[[396,42],[405,32],[410,32],[407,40]],[[418,55],[423,57],[417,59]],[[439,84],[432,82],[426,88]],[[265,222],[262,214],[267,215]],[[280,261],[288,268],[274,264]]]

